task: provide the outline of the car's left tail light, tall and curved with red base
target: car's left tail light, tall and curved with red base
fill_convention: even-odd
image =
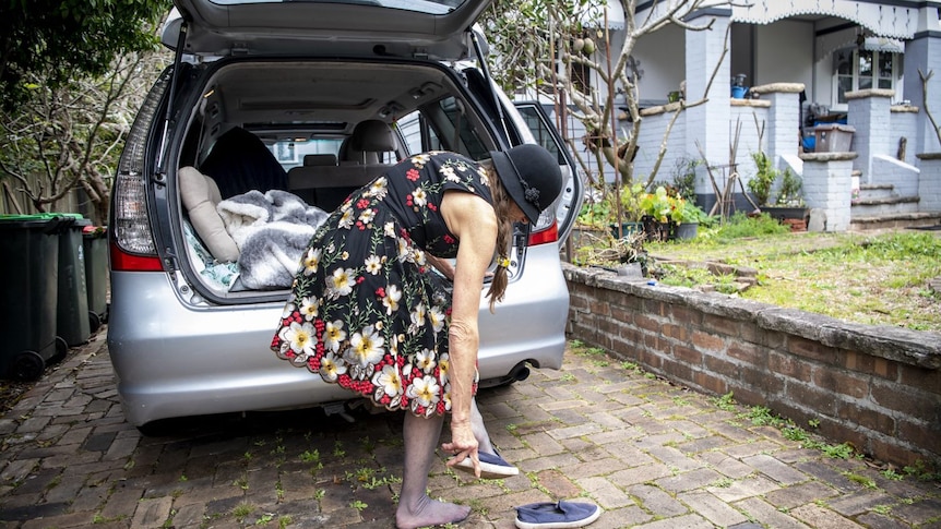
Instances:
[[[162,270],[147,212],[145,156],[147,133],[169,84],[167,69],[151,88],[124,143],[111,190],[111,269]]]

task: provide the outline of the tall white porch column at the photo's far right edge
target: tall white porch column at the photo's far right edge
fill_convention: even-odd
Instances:
[[[941,32],[938,27],[938,9],[936,7],[920,8],[918,19],[918,31],[912,40],[905,43],[905,98],[912,105],[924,107],[921,95],[920,70],[925,75],[934,72],[928,82],[928,107],[934,115],[936,120],[941,120]],[[925,109],[918,112],[916,125],[915,145],[910,145],[916,154],[941,152],[934,129],[925,113]]]

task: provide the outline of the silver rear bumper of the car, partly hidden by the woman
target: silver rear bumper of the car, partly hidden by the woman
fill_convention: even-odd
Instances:
[[[543,251],[537,248],[531,250]],[[568,290],[561,268],[540,276],[521,276],[496,314],[481,301],[481,378],[503,378],[523,362],[561,366]],[[167,274],[112,272],[108,349],[127,420],[142,425],[349,399],[353,394],[271,351],[282,310],[281,303],[188,306]]]

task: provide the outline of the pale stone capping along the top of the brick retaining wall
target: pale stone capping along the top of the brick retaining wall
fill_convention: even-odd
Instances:
[[[822,314],[784,309],[759,301],[700,292],[686,287],[647,285],[604,268],[583,268],[562,263],[568,281],[629,293],[643,299],[682,304],[724,318],[752,322],[758,327],[819,341],[827,347],[856,351],[922,369],[941,369],[941,334],[888,325],[847,323]]]

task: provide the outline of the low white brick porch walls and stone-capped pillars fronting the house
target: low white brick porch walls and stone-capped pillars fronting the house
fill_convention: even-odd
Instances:
[[[848,127],[820,123],[802,130],[799,121],[803,89],[797,83],[774,83],[751,87],[751,98],[723,101],[728,106],[729,154],[720,164],[710,159],[712,170],[702,166],[698,169],[700,205],[708,211],[718,200],[715,189],[731,189],[734,194],[727,200],[732,211],[754,209],[745,192],[755,173],[751,154],[763,152],[777,170],[789,170],[801,178],[803,202],[811,211],[810,229],[844,231],[941,224],[941,160],[918,156],[908,147],[917,134],[918,107],[892,104],[892,91],[849,92],[848,110],[841,120]],[[644,125],[635,175],[648,175],[653,169],[656,159],[648,155],[657,152],[667,122],[680,109],[681,104],[674,103],[642,111]],[[662,167],[682,167],[682,158],[689,157],[683,147],[689,143],[695,145],[700,156],[703,154],[703,141],[688,137],[690,127],[684,118],[680,116],[674,125]],[[849,137],[834,142],[836,148],[818,144],[814,151],[808,148],[813,142],[802,139],[815,140],[817,129]],[[669,153],[674,153],[672,158]],[[657,180],[670,178],[667,173]],[[776,187],[779,183],[778,180]]]

